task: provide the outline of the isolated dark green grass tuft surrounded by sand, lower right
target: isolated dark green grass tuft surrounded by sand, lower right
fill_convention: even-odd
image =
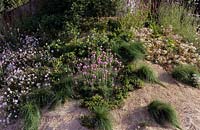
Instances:
[[[148,105],[148,112],[161,126],[170,124],[178,129],[181,129],[176,111],[170,104],[155,100]]]

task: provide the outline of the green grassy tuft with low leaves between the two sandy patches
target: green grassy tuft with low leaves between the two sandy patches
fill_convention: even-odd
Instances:
[[[82,125],[95,130],[112,130],[112,121],[106,107],[96,106],[91,116],[81,118]]]

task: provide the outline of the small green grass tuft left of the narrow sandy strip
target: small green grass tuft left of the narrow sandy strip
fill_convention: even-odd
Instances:
[[[136,76],[144,81],[157,82],[154,71],[147,65],[142,65],[135,72]]]

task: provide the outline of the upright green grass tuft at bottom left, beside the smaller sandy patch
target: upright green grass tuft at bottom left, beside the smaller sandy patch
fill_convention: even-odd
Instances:
[[[40,124],[40,111],[36,104],[27,103],[22,108],[24,130],[38,130]]]

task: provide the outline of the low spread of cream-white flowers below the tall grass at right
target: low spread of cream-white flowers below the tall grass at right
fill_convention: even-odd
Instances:
[[[147,60],[171,70],[176,64],[193,64],[200,67],[200,54],[193,43],[188,43],[172,31],[172,27],[163,28],[162,37],[152,37],[153,31],[148,28],[136,30],[136,37],[145,43]]]

